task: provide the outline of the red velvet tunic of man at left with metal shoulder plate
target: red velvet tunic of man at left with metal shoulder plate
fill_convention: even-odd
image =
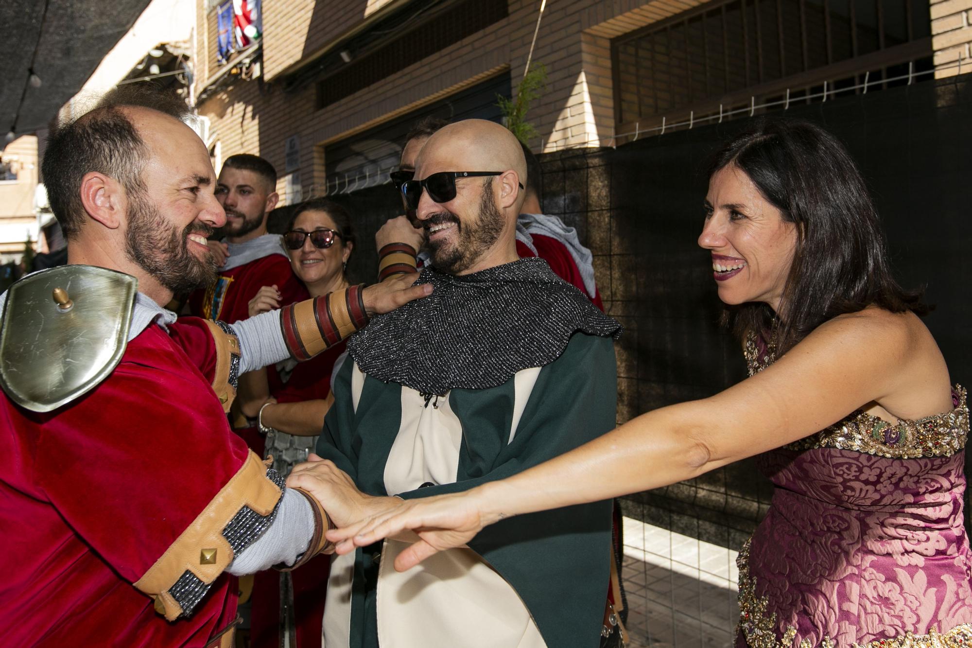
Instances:
[[[0,399],[4,645],[205,646],[233,621],[225,572],[174,622],[133,587],[244,472],[215,363],[206,324],[184,318],[169,334],[150,325],[111,376],[52,413]]]

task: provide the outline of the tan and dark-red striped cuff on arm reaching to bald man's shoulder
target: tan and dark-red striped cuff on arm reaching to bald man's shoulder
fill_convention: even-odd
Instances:
[[[368,322],[364,285],[349,286],[280,310],[284,342],[296,360],[313,358],[341,342]]]

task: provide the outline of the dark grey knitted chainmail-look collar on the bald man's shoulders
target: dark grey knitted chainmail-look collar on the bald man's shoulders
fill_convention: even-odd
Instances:
[[[424,394],[488,389],[548,365],[575,332],[611,337],[621,325],[539,258],[464,276],[432,268],[433,294],[371,322],[348,342],[364,374]]]

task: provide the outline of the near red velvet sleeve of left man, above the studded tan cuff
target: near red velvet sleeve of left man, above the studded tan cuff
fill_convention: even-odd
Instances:
[[[37,427],[38,486],[74,531],[137,581],[241,468],[246,444],[156,326],[115,372]]]

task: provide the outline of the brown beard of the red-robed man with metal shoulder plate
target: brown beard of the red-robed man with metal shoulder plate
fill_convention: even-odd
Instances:
[[[189,250],[189,235],[208,236],[213,229],[192,222],[181,232],[169,225],[144,197],[129,201],[125,254],[175,294],[208,285],[216,277],[216,260],[208,251],[202,259]]]

